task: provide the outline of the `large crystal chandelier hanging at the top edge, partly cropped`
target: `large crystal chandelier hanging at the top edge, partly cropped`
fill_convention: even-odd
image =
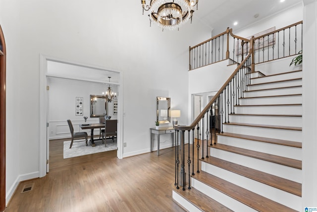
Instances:
[[[197,5],[198,0],[150,0],[150,5],[146,4],[146,0],[141,0],[142,8],[150,10],[150,26],[151,22],[158,23],[159,27],[168,30],[179,29],[181,25],[186,23],[193,17],[193,6]]]

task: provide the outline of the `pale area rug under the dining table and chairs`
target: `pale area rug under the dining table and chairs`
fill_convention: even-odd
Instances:
[[[76,140],[78,141],[78,140]],[[103,141],[95,141],[96,146],[92,147],[88,141],[88,146],[86,146],[86,142],[73,142],[71,148],[69,148],[70,141],[64,141],[64,156],[63,158],[77,157],[86,154],[94,154],[103,151],[110,151],[117,149],[117,142],[107,141],[107,146]]]

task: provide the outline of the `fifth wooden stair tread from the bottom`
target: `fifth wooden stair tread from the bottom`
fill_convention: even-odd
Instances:
[[[242,134],[236,134],[236,133],[219,133],[217,136],[226,136],[226,137],[232,137],[237,139],[245,139],[250,141],[260,141],[265,143],[274,143],[278,145],[285,145],[285,146],[291,146],[296,148],[302,148],[301,142],[296,141],[286,141],[286,140],[280,140],[280,139],[271,139],[271,138],[264,138],[259,136],[249,136],[249,135],[242,135]]]

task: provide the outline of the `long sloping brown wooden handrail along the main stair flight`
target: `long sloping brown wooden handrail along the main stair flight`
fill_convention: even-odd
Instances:
[[[251,46],[253,46],[253,39],[251,41]],[[195,126],[198,124],[198,122],[204,117],[205,113],[210,109],[213,102],[216,101],[216,99],[220,96],[222,91],[225,89],[225,87],[230,83],[230,81],[233,79],[233,77],[237,74],[237,72],[243,67],[245,62],[251,57],[253,51],[250,51],[250,53],[247,55],[247,57],[239,64],[237,69],[233,71],[233,73],[230,75],[230,77],[226,80],[226,82],[221,86],[219,91],[212,97],[211,101],[206,105],[206,107],[202,110],[202,112],[197,116],[197,118],[193,121],[193,123],[189,126],[178,126],[175,125],[175,130],[180,131],[186,131],[186,130],[193,130],[195,129]]]

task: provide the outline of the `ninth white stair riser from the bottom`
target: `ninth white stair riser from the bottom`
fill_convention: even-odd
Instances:
[[[278,96],[251,99],[239,99],[240,105],[259,105],[259,104],[301,104],[302,96]]]

